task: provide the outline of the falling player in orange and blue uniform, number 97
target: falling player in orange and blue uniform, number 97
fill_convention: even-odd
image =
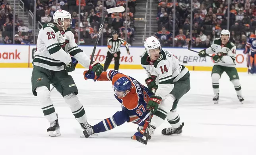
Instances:
[[[131,138],[135,140],[136,136],[143,137],[145,129],[148,126],[149,111],[146,110],[146,104],[149,96],[153,95],[147,87],[144,87],[136,79],[126,76],[116,70],[102,72],[96,77],[93,72],[85,71],[85,79],[94,79],[97,81],[112,81],[115,98],[122,104],[122,111],[116,112],[112,117],[104,119],[91,128],[85,129],[83,134],[86,138],[94,133],[105,132],[120,126],[125,122],[132,122],[139,125],[138,132]],[[150,137],[149,137],[150,138]]]

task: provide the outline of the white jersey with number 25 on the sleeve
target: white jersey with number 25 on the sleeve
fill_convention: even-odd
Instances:
[[[54,23],[44,24],[38,34],[33,66],[53,71],[64,70],[65,65],[71,61],[70,55],[83,67],[89,67],[89,57],[78,47],[74,34],[69,28],[64,32],[59,30]]]

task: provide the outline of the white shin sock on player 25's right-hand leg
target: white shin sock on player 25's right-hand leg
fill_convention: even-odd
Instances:
[[[78,120],[78,122],[80,124],[86,123],[87,116],[86,116],[85,110],[83,109],[81,102],[78,100],[78,96],[76,96],[74,93],[71,93],[69,95],[64,96],[63,98],[64,98],[65,102],[70,106],[70,109],[71,109],[73,115]]]

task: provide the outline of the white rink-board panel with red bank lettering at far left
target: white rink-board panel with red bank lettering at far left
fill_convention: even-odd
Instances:
[[[28,67],[29,45],[0,45],[0,67]]]

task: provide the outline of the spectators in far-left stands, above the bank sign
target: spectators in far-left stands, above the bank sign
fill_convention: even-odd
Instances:
[[[32,31],[29,30],[24,22],[15,14],[15,22],[13,9],[6,0],[0,0],[0,43],[13,44],[13,37],[15,44],[33,44]],[[13,23],[14,28],[13,28]],[[13,31],[15,35],[13,36]]]

